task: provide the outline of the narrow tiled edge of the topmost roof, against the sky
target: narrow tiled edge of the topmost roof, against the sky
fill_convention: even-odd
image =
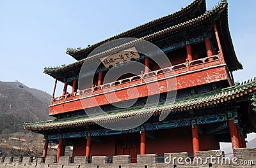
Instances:
[[[170,15],[166,15],[166,16],[161,17],[161,18],[157,18],[156,20],[152,20],[152,21],[150,21],[146,24],[139,25],[137,27],[134,27],[133,29],[130,29],[129,31],[125,31],[125,32],[122,32],[120,34],[117,34],[116,36],[105,39],[104,41],[100,41],[99,43],[95,43],[94,45],[88,46],[87,48],[67,48],[67,54],[73,55],[75,53],[81,53],[81,52],[85,52],[85,51],[89,51],[89,53],[90,53],[97,46],[102,45],[103,43],[106,43],[106,42],[111,41],[113,39],[131,37],[131,36],[134,36],[134,34],[137,33],[137,32],[145,31],[147,29],[150,29],[150,27],[152,27],[153,25],[155,25],[155,26],[159,25],[159,24],[161,25],[164,21],[173,20],[173,19],[177,19],[177,18],[180,18],[180,17],[184,17],[186,15],[189,15],[190,14],[189,12],[198,8],[198,4],[204,6],[204,10],[200,9],[200,12],[204,13],[205,10],[206,10],[205,0],[195,0],[195,1],[193,1],[193,3],[189,4],[185,8],[182,8],[181,10],[179,10],[175,13],[172,13]]]

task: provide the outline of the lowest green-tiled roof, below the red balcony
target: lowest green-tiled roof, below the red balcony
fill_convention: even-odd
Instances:
[[[95,122],[111,122],[113,120],[125,120],[131,116],[152,115],[153,113],[174,113],[188,109],[202,108],[205,106],[214,106],[223,102],[239,99],[244,95],[254,94],[256,92],[256,78],[241,85],[214,90],[206,94],[191,95],[183,99],[177,99],[174,104],[160,104],[152,108],[128,108],[118,111],[112,111],[106,116],[97,116],[93,118]],[[65,127],[78,127],[80,125],[95,124],[88,116],[76,118],[55,119],[45,122],[24,123],[24,128],[29,130],[51,130]]]

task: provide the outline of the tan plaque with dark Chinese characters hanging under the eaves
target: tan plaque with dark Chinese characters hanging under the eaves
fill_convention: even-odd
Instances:
[[[132,47],[122,52],[114,53],[112,55],[104,57],[100,59],[100,61],[102,62],[102,64],[104,64],[105,67],[109,67],[109,66],[115,66],[120,62],[128,61],[131,59],[138,59],[138,58],[140,58],[140,54],[137,52],[135,47]]]

